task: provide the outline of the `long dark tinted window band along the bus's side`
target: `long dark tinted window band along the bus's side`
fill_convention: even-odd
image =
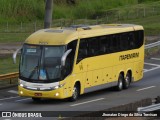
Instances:
[[[143,45],[143,30],[104,35],[80,40],[78,59],[138,49]]]

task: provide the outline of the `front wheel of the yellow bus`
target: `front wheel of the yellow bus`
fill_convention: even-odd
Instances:
[[[69,101],[71,102],[76,101],[79,97],[79,94],[80,94],[79,86],[78,84],[75,84],[73,87],[72,97],[70,97]]]

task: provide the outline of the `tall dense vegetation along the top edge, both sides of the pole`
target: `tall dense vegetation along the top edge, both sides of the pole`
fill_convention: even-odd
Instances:
[[[55,19],[93,19],[108,9],[158,0],[54,0]],[[45,0],[0,0],[0,22],[43,20]]]

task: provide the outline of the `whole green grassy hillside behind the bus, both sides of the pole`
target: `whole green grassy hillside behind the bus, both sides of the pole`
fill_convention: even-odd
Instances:
[[[43,29],[44,1],[23,1],[0,1],[0,43],[24,42],[31,33]],[[143,25],[146,35],[159,35],[160,0],[77,0],[76,5],[57,1],[52,27],[129,23]]]

